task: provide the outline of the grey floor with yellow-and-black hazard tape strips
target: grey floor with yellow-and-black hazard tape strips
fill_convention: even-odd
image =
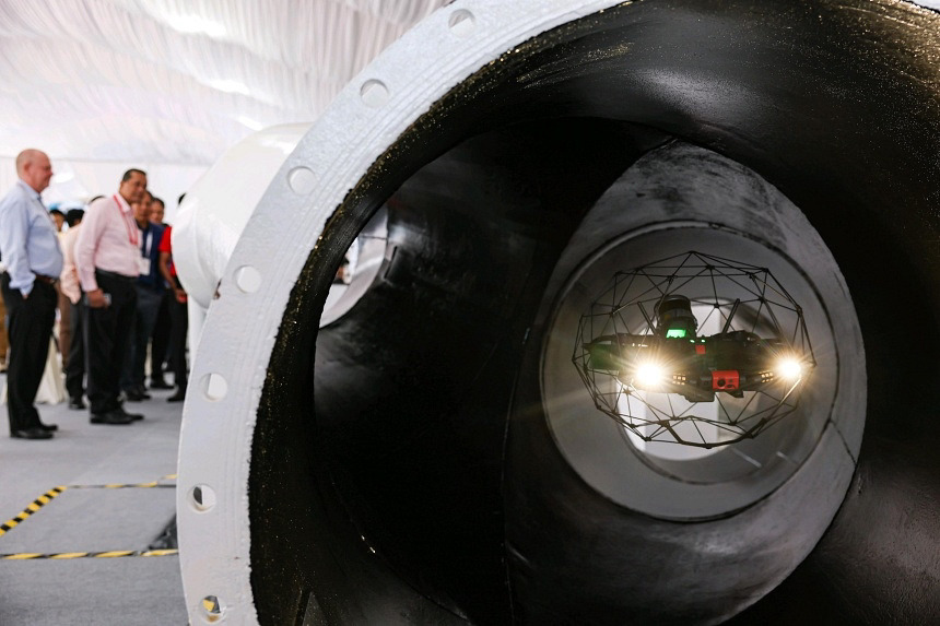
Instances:
[[[0,555],[146,551],[175,515],[183,414],[181,403],[166,402],[171,391],[150,393],[127,405],[145,416],[127,426],[90,424],[87,411],[66,403],[39,404],[43,421],[59,425],[44,441],[11,439],[0,408],[0,524],[52,487],[69,486],[2,534]],[[161,486],[98,486],[154,481]],[[0,560],[3,626],[187,623],[176,554]]]

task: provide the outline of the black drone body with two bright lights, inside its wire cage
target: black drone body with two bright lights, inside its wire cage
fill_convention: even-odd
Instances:
[[[656,305],[655,322],[641,307],[651,333],[604,334],[583,344],[589,367],[638,391],[678,393],[689,402],[712,402],[716,393],[743,398],[745,391],[780,383],[795,387],[814,363],[779,338],[730,330],[739,304],[721,332],[700,336],[691,300],[666,295]]]

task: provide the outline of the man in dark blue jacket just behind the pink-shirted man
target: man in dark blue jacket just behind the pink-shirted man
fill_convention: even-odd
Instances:
[[[121,388],[131,402],[150,399],[144,388],[144,369],[146,365],[146,346],[160,303],[163,299],[163,276],[160,274],[160,243],[163,237],[163,226],[150,221],[151,194],[144,191],[140,202],[131,204],[133,218],[140,232],[140,275],[137,277],[137,316],[128,345],[128,358],[121,374]]]

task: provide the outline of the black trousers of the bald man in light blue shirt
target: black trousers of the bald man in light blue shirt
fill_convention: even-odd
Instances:
[[[10,274],[0,277],[3,302],[10,318],[10,363],[7,366],[7,411],[10,432],[39,426],[36,411],[36,392],[49,356],[49,338],[56,322],[56,287],[36,281],[30,297],[23,298],[20,290],[10,288]]]

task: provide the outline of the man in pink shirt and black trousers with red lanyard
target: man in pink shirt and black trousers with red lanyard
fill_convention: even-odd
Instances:
[[[121,405],[120,371],[137,308],[140,232],[130,204],[146,191],[146,174],[128,169],[118,192],[92,202],[75,243],[75,269],[84,292],[92,424],[130,424],[143,415]]]

